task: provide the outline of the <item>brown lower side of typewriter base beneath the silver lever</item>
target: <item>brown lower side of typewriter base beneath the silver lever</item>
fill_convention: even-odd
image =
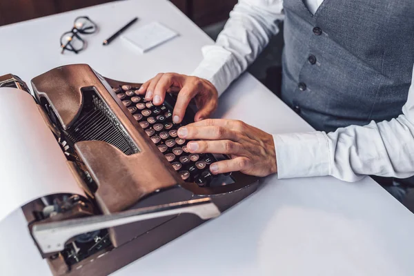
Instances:
[[[255,183],[233,193],[228,193],[225,196],[217,195],[210,197],[219,206],[219,209],[224,211],[254,193],[257,187],[258,181],[255,181]],[[110,250],[102,250],[87,259],[83,259],[83,261],[72,266],[70,270],[68,270],[68,266],[62,257],[56,259],[49,258],[48,264],[55,276],[109,275],[204,222],[204,220],[195,215],[179,215],[130,240],[126,244]],[[211,235],[217,234],[212,233]]]

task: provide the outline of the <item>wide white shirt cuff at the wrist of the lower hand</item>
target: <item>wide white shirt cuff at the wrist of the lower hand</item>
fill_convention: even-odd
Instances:
[[[273,135],[279,179],[329,175],[328,137],[325,132]]]

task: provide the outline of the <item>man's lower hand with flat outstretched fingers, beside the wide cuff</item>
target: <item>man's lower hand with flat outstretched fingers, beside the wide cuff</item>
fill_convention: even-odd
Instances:
[[[213,174],[239,170],[264,177],[277,172],[272,135],[242,121],[206,119],[179,128],[178,136],[200,140],[187,144],[191,153],[221,153],[231,157],[211,164]]]

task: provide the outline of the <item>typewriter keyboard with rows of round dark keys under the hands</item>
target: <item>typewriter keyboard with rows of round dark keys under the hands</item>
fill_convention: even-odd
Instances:
[[[217,184],[216,175],[210,172],[209,166],[217,161],[212,154],[190,154],[187,150],[186,139],[177,135],[177,130],[183,124],[172,123],[172,106],[168,103],[168,97],[161,106],[154,106],[151,101],[146,101],[144,95],[138,95],[137,88],[124,85],[113,87],[112,90],[128,108],[132,116],[139,122],[160,152],[170,162],[187,182],[194,182],[199,186],[210,186],[212,182]],[[184,123],[185,124],[185,123]],[[219,185],[228,184],[228,181],[218,181]],[[227,183],[224,183],[227,182]],[[212,186],[216,186],[216,185]]]

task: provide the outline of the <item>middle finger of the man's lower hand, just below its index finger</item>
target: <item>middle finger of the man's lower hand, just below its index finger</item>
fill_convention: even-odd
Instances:
[[[223,155],[241,155],[242,145],[230,140],[190,141],[187,149],[191,153],[220,153]]]

